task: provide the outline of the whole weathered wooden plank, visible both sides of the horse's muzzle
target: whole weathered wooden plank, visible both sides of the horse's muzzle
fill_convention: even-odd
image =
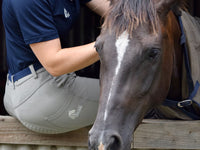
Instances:
[[[32,132],[16,119],[0,116],[0,143],[87,147],[90,127],[65,134]],[[134,134],[138,149],[200,149],[200,121],[143,120]]]

